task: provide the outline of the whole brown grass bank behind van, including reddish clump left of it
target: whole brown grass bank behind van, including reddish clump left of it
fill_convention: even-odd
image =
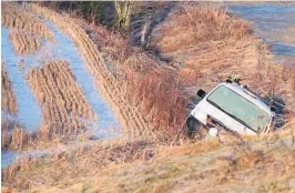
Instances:
[[[211,6],[179,4],[174,9],[148,38],[151,54],[102,27],[81,22],[105,63],[113,67],[125,91],[122,94],[139,108],[150,128],[177,131],[189,98],[228,75],[240,77],[263,96],[283,96],[294,109],[295,70],[269,61],[267,45],[252,33],[250,23]]]

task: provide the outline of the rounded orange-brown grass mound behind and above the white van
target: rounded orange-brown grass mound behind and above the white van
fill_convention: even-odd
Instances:
[[[274,92],[295,106],[294,68],[271,62],[268,47],[252,33],[250,23],[212,6],[179,8],[152,30],[149,49],[180,71],[200,72],[195,85],[210,89],[228,75],[238,77],[260,93]]]

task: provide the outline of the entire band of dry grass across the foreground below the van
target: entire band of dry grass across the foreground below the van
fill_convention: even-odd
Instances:
[[[293,126],[272,136],[179,146],[149,138],[101,142],[44,160],[19,160],[3,171],[4,185],[29,192],[291,192]]]

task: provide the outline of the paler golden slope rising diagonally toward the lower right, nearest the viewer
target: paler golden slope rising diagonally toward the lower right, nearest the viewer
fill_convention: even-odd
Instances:
[[[110,164],[29,192],[292,192],[293,130],[243,141],[223,138],[181,146],[159,145],[144,161]]]

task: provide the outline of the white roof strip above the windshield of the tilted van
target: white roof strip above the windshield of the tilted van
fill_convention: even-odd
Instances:
[[[220,85],[224,85],[226,88],[230,88],[231,90],[235,91],[236,93],[238,93],[240,95],[242,95],[243,98],[247,99],[248,101],[251,101],[252,103],[256,104],[257,106],[260,106],[262,110],[266,111],[268,114],[272,114],[271,111],[271,106],[267,105],[266,103],[264,103],[262,101],[262,99],[260,96],[255,96],[254,94],[248,93],[243,87],[241,87],[240,84],[236,83],[227,83],[227,82],[223,82]],[[216,87],[216,88],[217,88]],[[216,89],[215,88],[215,89]],[[215,90],[214,89],[214,90]]]

